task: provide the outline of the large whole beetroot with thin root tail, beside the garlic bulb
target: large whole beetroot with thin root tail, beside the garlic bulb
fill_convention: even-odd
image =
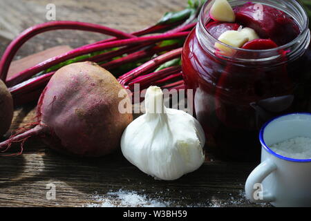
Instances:
[[[99,157],[120,147],[120,138],[133,120],[120,113],[119,103],[129,99],[117,79],[93,62],[69,64],[57,70],[37,105],[35,128],[0,144],[39,135],[51,148],[70,155]],[[126,102],[131,104],[131,102]]]

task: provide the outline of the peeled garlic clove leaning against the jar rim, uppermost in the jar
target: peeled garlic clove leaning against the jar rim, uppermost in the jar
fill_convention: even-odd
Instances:
[[[227,0],[216,0],[209,10],[209,17],[214,21],[234,22],[236,15]]]

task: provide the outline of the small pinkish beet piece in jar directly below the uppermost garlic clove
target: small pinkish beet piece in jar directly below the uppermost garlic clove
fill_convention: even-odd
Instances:
[[[240,25],[238,23],[227,23],[227,22],[218,22],[213,21],[207,24],[206,28],[209,34],[214,38],[218,39],[223,32],[227,30],[238,30]]]

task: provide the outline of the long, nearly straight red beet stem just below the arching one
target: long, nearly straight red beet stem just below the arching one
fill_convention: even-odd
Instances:
[[[72,59],[79,55],[85,55],[87,53],[91,53],[95,51],[106,50],[109,48],[115,48],[115,47],[121,47],[121,46],[129,46],[133,44],[158,42],[158,41],[164,41],[167,39],[178,39],[181,37],[187,37],[187,35],[189,35],[189,32],[178,32],[178,33],[173,33],[173,34],[154,35],[154,36],[149,36],[149,37],[137,37],[135,39],[123,39],[123,40],[118,40],[118,41],[106,42],[104,44],[96,44],[94,46],[88,46],[87,48],[77,48],[75,50],[71,50],[70,52],[66,52],[64,55],[59,55],[57,57],[50,58],[46,61],[43,61],[37,64],[36,66],[33,66],[32,68],[23,70],[21,73],[8,79],[6,81],[6,84],[8,86],[14,86],[15,84],[21,83],[25,79],[28,79],[29,77],[39,73],[42,70],[46,70],[47,68],[55,66],[56,64],[59,64],[60,62],[66,61],[68,59]],[[180,49],[180,53],[181,53],[181,49]]]

